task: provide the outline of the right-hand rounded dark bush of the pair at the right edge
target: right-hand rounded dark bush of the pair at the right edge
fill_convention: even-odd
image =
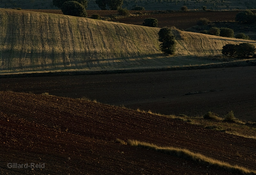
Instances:
[[[251,43],[241,43],[236,47],[236,55],[239,57],[249,57],[255,54],[256,48]]]

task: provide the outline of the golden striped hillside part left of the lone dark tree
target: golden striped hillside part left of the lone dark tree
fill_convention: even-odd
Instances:
[[[158,28],[5,9],[0,24],[2,71],[110,69],[161,53]]]

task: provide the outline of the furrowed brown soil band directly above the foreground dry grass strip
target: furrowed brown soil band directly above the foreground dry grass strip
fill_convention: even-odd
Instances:
[[[106,141],[131,138],[161,146],[187,148],[251,169],[256,165],[255,140],[182,121],[76,99],[13,92],[1,92],[0,104],[2,113],[50,128],[60,125],[61,130],[68,128],[70,133],[80,136]],[[59,108],[54,113],[51,106]],[[37,111],[40,113],[34,113]],[[236,151],[243,156],[236,157]]]

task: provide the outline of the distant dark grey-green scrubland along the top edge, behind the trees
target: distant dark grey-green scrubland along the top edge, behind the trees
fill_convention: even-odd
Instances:
[[[143,6],[146,10],[180,10],[183,5],[188,9],[200,9],[206,6],[210,10],[256,9],[255,0],[124,0],[123,8],[130,10],[135,5]],[[57,9],[52,0],[1,0],[0,8],[22,9]],[[88,3],[88,10],[99,10],[95,0]]]

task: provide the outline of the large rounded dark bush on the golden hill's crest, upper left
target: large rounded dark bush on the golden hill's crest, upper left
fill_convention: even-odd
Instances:
[[[67,1],[61,6],[64,15],[86,17],[87,13],[84,6],[77,1]]]

